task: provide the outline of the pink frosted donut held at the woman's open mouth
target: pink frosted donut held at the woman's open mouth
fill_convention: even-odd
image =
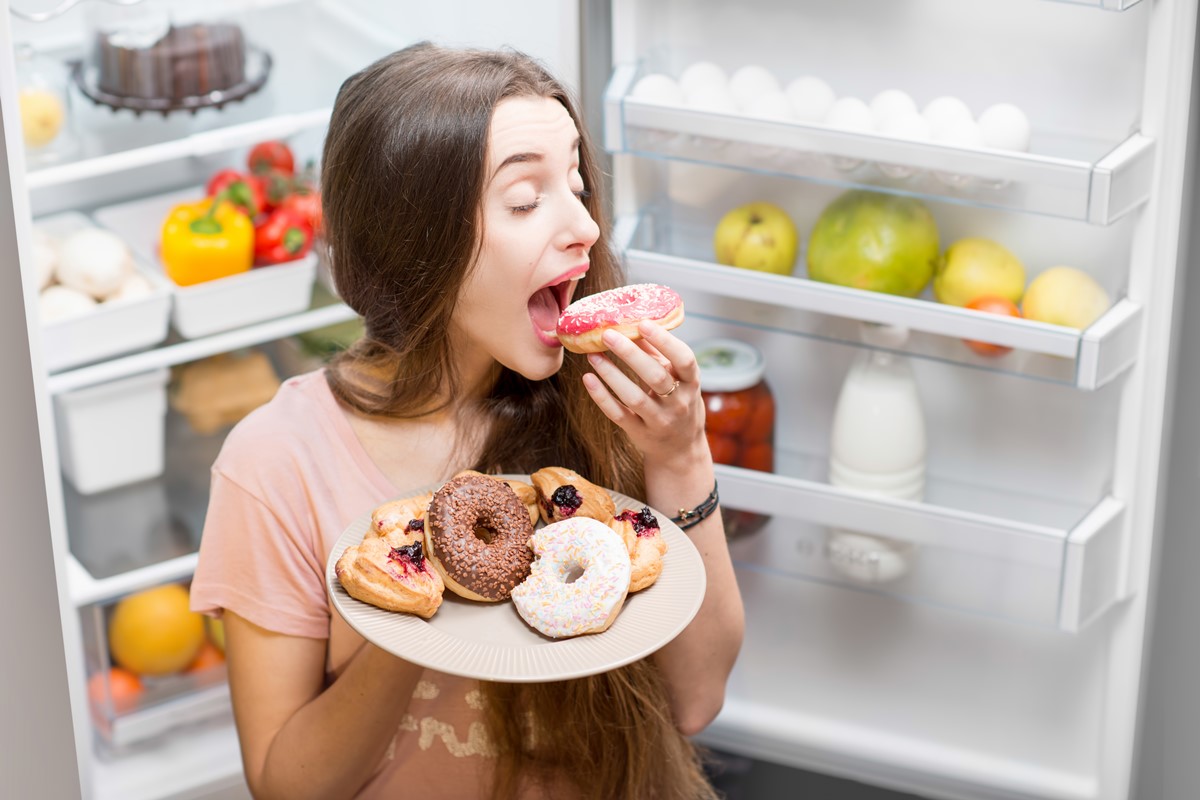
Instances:
[[[601,337],[610,327],[640,339],[637,324],[649,319],[667,330],[683,321],[683,299],[658,283],[635,283],[580,297],[558,318],[558,341],[571,353],[604,353]]]

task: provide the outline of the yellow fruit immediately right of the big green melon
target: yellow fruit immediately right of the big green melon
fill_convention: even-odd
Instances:
[[[990,239],[958,240],[946,248],[934,267],[934,296],[950,306],[966,306],[979,297],[1020,302],[1022,294],[1025,265]]]

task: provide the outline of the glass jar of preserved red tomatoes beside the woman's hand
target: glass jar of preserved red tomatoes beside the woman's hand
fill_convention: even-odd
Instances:
[[[706,339],[694,347],[704,401],[704,433],[713,461],[762,473],[775,469],[775,398],[767,385],[767,361],[738,339]],[[721,507],[730,539],[752,534],[769,517]]]

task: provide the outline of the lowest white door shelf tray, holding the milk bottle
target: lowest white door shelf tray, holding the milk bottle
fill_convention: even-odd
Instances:
[[[1087,507],[930,475],[913,503],[832,486],[816,457],[776,458],[775,474],[716,468],[722,507],[772,517],[731,541],[750,581],[786,576],[1066,632],[1121,599],[1124,504],[1111,497]]]

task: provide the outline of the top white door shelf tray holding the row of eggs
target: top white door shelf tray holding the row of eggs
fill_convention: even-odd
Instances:
[[[955,148],[823,125],[708,113],[630,96],[638,67],[605,94],[614,154],[731,167],[986,207],[1110,224],[1146,201],[1154,142],[1098,142],[1034,131],[1034,152]]]

